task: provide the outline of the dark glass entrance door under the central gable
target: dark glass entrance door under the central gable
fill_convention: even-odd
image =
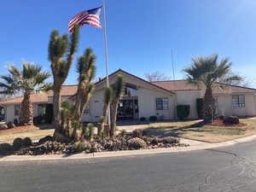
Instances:
[[[137,119],[137,99],[120,100],[118,108],[118,120]]]

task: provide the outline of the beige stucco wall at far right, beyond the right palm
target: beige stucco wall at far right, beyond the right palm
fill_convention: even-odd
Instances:
[[[239,94],[245,96],[245,108],[233,108],[232,96],[230,95],[218,95],[218,115],[230,116],[255,116],[256,115],[256,102],[253,94]]]

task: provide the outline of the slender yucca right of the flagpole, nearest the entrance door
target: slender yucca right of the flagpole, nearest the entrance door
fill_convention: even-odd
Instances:
[[[113,98],[111,104],[111,125],[110,125],[110,137],[114,137],[116,131],[116,118],[119,106],[119,100],[124,94],[124,79],[121,75],[118,75],[115,83],[112,85],[113,88]]]

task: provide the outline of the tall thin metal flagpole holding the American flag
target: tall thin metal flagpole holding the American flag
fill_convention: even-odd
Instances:
[[[104,53],[105,53],[105,67],[106,67],[106,79],[107,79],[107,88],[109,87],[109,78],[108,78],[108,38],[107,38],[107,19],[106,19],[106,0],[103,0],[103,18],[104,18],[104,26],[103,26],[103,41],[104,41]],[[108,119],[106,119],[106,123],[110,125],[110,108],[108,106]]]

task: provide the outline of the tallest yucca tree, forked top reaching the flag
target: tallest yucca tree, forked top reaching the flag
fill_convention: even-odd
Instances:
[[[53,74],[53,104],[55,132],[61,133],[61,85],[67,79],[74,54],[79,44],[79,26],[75,26],[73,33],[59,35],[57,30],[51,32],[48,47],[48,58]]]

